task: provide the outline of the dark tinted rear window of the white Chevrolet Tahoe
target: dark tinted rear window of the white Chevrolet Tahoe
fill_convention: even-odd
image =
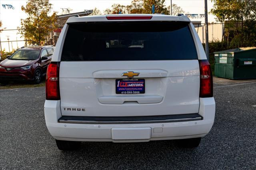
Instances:
[[[189,22],[69,24],[62,61],[197,59]]]

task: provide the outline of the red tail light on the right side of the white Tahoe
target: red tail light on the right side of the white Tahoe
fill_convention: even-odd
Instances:
[[[200,97],[213,96],[212,70],[207,59],[199,60],[200,66]]]

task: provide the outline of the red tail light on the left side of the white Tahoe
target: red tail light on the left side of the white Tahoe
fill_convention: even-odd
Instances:
[[[60,62],[51,62],[46,73],[46,100],[60,100]]]

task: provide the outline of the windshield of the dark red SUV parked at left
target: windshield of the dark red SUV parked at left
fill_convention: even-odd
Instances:
[[[40,50],[26,50],[26,49],[19,49],[15,51],[9,59],[15,60],[35,60],[38,59]]]

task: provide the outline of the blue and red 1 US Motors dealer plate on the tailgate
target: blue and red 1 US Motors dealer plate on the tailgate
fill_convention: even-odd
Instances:
[[[145,93],[145,79],[116,79],[116,94]]]

